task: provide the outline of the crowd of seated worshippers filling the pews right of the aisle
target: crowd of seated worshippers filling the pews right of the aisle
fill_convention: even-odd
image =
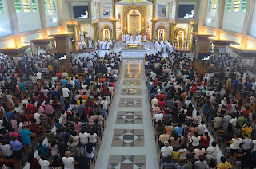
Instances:
[[[228,53],[206,64],[206,74],[199,74],[185,53],[145,56],[161,166],[254,168],[255,79],[246,73],[245,61]]]

